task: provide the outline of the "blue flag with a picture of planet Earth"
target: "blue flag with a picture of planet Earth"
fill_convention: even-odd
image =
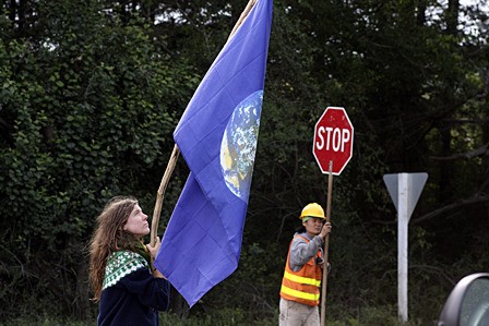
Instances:
[[[211,65],[174,133],[190,176],[155,266],[190,306],[238,267],[272,10],[272,0],[258,0]]]

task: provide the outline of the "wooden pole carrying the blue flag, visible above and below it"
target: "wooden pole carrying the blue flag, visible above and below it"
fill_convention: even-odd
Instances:
[[[257,3],[257,1],[258,0],[250,0],[248,2],[248,4],[244,8],[243,12],[241,13],[241,15],[239,16],[238,21],[236,22],[235,27],[232,27],[232,31],[229,34],[228,40],[236,33],[236,31],[238,31],[239,26],[244,21],[247,15],[250,13],[251,9]],[[165,174],[162,178],[162,182],[159,183],[158,192],[156,194],[156,204],[155,204],[155,209],[153,212],[153,220],[151,222],[151,236],[150,236],[151,239],[150,239],[150,243],[151,243],[152,246],[155,245],[155,242],[156,242],[158,225],[159,225],[159,215],[162,213],[162,205],[163,205],[163,198],[164,198],[164,195],[165,195],[165,191],[166,191],[166,188],[168,186],[168,182],[169,182],[169,179],[171,177],[171,173],[175,170],[175,166],[177,164],[177,159],[178,159],[179,155],[180,155],[180,148],[178,148],[178,145],[175,144],[174,152],[171,152],[170,159],[168,160],[168,165],[167,165],[166,170],[165,170]]]

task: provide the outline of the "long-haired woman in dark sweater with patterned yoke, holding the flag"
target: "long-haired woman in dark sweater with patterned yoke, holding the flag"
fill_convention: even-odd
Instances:
[[[159,249],[143,244],[147,215],[133,197],[115,197],[97,217],[90,246],[90,280],[98,325],[158,325],[169,305],[169,282],[152,265]],[[152,273],[153,269],[153,273]]]

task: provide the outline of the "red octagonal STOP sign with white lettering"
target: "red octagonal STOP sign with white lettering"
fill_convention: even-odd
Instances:
[[[323,173],[338,176],[351,158],[354,126],[344,108],[329,107],[315,123],[312,154]]]

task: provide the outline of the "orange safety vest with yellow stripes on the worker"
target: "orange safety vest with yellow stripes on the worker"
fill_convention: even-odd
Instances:
[[[309,239],[300,237],[309,243]],[[293,240],[294,241],[294,240]],[[290,269],[290,247],[288,247],[287,263],[285,264],[284,278],[282,279],[281,297],[290,301],[296,301],[307,305],[319,305],[322,269],[315,264],[315,258],[321,258],[321,251],[318,251],[302,268],[297,271]]]

